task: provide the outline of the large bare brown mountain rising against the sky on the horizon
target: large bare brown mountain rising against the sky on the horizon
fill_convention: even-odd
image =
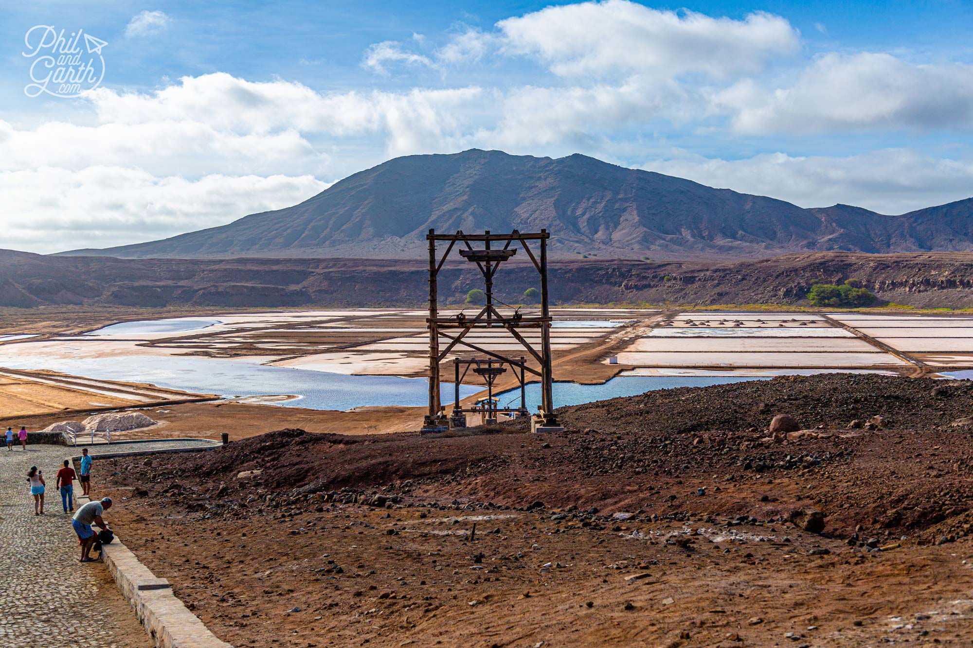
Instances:
[[[885,216],[797,205],[573,155],[396,158],[229,225],[74,256],[422,258],[425,234],[547,229],[554,258],[733,259],[973,250],[973,198]]]

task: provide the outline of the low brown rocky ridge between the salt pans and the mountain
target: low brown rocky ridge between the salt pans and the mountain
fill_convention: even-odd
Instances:
[[[422,306],[421,262],[361,259],[131,260],[0,251],[0,306]],[[736,263],[559,261],[555,303],[802,304],[812,281],[856,278],[879,298],[912,306],[973,307],[973,253],[791,254]],[[520,301],[533,267],[511,262],[498,296]],[[440,295],[458,301],[482,278],[446,266]]]

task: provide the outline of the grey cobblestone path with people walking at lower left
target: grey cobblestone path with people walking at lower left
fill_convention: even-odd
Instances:
[[[193,443],[180,444],[198,445]],[[98,452],[158,450],[168,443],[92,447],[91,492],[97,495]],[[110,449],[110,450],[109,450]],[[0,448],[0,646],[11,648],[149,648],[138,623],[101,562],[78,562],[78,539],[54,487],[62,461],[80,447]],[[27,471],[37,466],[47,482],[44,515],[34,515]],[[78,482],[75,494],[81,494]],[[124,506],[124,503],[120,503]],[[111,514],[106,518],[111,524]]]

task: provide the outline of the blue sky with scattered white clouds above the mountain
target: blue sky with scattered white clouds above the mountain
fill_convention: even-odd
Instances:
[[[905,213],[973,197],[971,33],[970,0],[5,2],[0,248],[215,227],[470,148]]]

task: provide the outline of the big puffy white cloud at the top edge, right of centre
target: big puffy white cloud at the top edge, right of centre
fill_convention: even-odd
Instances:
[[[775,54],[795,53],[799,44],[798,31],[771,14],[710,18],[627,0],[548,7],[500,20],[497,27],[509,53],[537,56],[560,76],[726,77],[757,71]]]

